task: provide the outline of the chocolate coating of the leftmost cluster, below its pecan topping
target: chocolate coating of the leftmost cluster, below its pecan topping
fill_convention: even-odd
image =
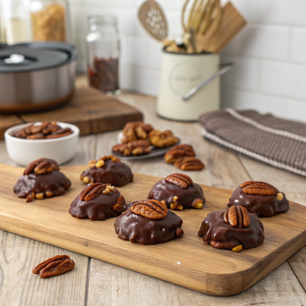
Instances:
[[[31,173],[29,175],[21,175],[13,187],[13,191],[20,198],[25,198],[30,192],[46,193],[53,192],[54,196],[59,196],[65,192],[71,185],[71,182],[65,174],[60,171],[53,170],[45,174]]]

